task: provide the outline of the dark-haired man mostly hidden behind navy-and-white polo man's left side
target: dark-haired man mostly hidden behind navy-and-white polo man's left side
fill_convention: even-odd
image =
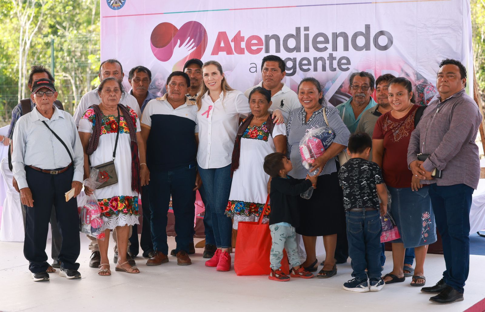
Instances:
[[[146,104],[150,100],[156,99],[157,96],[148,92],[148,86],[151,83],[151,71],[144,66],[133,67],[128,74],[128,82],[131,86],[129,94],[133,95],[138,102],[140,110],[143,111]],[[141,119],[141,116],[139,116]],[[132,257],[136,257],[139,252],[139,246],[142,247],[143,256],[146,258],[151,258],[153,256],[153,242],[151,239],[150,232],[150,203],[148,195],[148,185],[142,186],[142,213],[143,213],[143,225],[142,225],[142,236],[140,242],[138,243],[138,225],[134,224],[129,242],[129,254]]]

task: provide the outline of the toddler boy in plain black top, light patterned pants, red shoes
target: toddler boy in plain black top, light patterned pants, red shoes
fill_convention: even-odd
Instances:
[[[292,168],[291,161],[282,153],[271,153],[264,158],[264,172],[271,177],[269,225],[272,244],[269,279],[278,282],[287,282],[290,280],[290,276],[304,279],[313,277],[312,273],[300,267],[295,234],[295,227],[300,223],[296,196],[312,186],[315,187],[317,176],[309,177],[307,175],[307,179],[300,182],[288,175]],[[292,267],[290,276],[280,269],[283,248],[286,249],[288,261]]]

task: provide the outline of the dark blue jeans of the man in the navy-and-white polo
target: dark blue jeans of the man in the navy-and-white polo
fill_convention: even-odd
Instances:
[[[179,167],[171,171],[152,170],[150,172],[149,198],[151,210],[151,236],[153,249],[168,254],[167,213],[172,195],[175,217],[177,248],[189,253],[189,244],[194,232],[195,217],[195,175],[196,167]]]

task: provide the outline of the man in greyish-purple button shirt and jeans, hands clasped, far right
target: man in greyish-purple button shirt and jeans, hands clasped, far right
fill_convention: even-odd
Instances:
[[[465,93],[467,70],[463,64],[445,59],[439,67],[436,79],[439,94],[411,134],[407,163],[421,183],[431,184],[429,195],[446,263],[443,278],[421,291],[438,294],[431,301],[452,303],[463,300],[469,273],[471,194],[480,178],[475,138],[482,114]],[[419,161],[418,153],[429,156]],[[434,177],[435,169],[442,172],[441,178]]]

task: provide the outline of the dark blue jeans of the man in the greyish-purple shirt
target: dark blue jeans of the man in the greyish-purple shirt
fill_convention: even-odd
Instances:
[[[445,283],[463,294],[470,265],[470,207],[473,189],[465,184],[431,184],[429,195],[443,241]]]

